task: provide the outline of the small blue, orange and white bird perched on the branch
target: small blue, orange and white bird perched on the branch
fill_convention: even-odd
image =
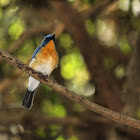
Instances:
[[[55,34],[47,35],[43,38],[39,47],[34,51],[29,66],[38,72],[49,76],[58,66],[58,53],[55,45]],[[41,82],[29,76],[28,88],[22,101],[22,106],[31,109],[35,91],[41,85]]]

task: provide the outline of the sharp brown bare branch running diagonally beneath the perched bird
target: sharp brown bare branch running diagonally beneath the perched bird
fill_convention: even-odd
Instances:
[[[107,109],[105,107],[102,107],[98,104],[95,104],[95,103],[87,100],[84,97],[80,97],[80,96],[76,95],[74,92],[69,91],[64,86],[58,84],[57,82],[54,82],[53,80],[46,78],[42,73],[33,70],[31,67],[27,66],[22,61],[13,57],[12,55],[5,52],[1,48],[0,48],[0,57],[2,59],[6,60],[7,62],[9,62],[10,64],[12,64],[13,66],[15,66],[16,68],[21,69],[22,71],[25,71],[26,73],[28,73],[32,77],[39,80],[41,83],[51,87],[53,90],[57,91],[61,95],[69,98],[73,102],[78,103],[78,104],[82,105],[83,107],[85,107],[93,112],[96,112],[96,113],[101,114],[105,117],[108,117],[109,119],[114,120],[115,122],[140,129],[140,121],[139,120],[136,120],[136,119],[128,117],[126,115],[112,111],[112,110]]]

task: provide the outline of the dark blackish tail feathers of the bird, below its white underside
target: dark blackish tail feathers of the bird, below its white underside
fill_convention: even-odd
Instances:
[[[25,96],[24,96],[24,99],[23,99],[23,102],[22,102],[23,107],[26,107],[27,109],[30,109],[32,107],[34,94],[35,94],[35,91],[31,92],[27,89]]]

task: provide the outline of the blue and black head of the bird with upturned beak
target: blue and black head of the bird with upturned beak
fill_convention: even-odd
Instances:
[[[46,44],[47,44],[49,41],[51,41],[51,40],[53,40],[54,43],[55,43],[55,34],[53,34],[53,35],[49,34],[49,35],[45,36],[45,37],[43,38],[42,42],[41,42],[40,47],[45,47]]]

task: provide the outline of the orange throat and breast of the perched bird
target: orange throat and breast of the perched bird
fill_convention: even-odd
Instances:
[[[37,64],[43,61],[49,61],[51,59],[51,65],[55,68],[58,65],[58,54],[55,50],[55,44],[53,40],[49,41],[45,47],[41,48],[41,53],[38,53],[36,61]]]

